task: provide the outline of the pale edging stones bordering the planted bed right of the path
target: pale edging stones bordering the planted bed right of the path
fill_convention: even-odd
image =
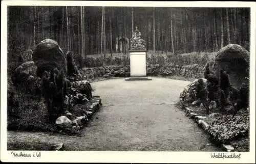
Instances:
[[[194,113],[193,110],[191,110],[188,107],[185,107],[185,111],[190,116],[190,118],[193,118],[198,123],[198,125],[200,125],[200,127],[202,127],[207,132],[207,129],[209,128],[210,125],[204,120],[206,119],[205,116],[199,116],[197,113]],[[231,145],[221,144],[221,146],[225,151],[234,151],[234,148]]]

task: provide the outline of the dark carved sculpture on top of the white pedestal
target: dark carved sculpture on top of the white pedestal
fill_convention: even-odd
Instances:
[[[143,39],[141,39],[141,33],[138,30],[137,26],[131,38],[131,50],[135,49],[146,49],[146,42]]]

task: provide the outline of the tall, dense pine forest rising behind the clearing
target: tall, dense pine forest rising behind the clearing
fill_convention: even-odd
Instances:
[[[9,6],[8,57],[17,58],[15,54],[46,38],[82,58],[126,54],[136,26],[153,52],[214,52],[231,43],[247,50],[250,46],[250,8]]]

